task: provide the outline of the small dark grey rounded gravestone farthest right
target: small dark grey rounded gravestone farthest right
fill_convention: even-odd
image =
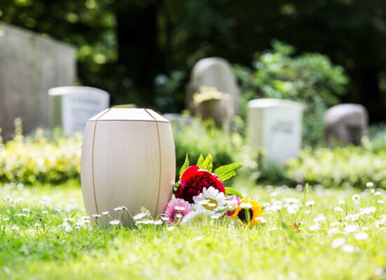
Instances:
[[[326,144],[338,141],[340,144],[360,145],[366,135],[368,113],[359,104],[333,106],[324,116],[324,139]]]

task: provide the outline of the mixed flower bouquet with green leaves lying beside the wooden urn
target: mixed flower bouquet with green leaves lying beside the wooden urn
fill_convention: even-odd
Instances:
[[[225,187],[225,181],[237,174],[243,165],[232,163],[212,172],[212,156],[200,155],[197,165],[189,166],[186,155],[180,169],[180,180],[175,184],[174,196],[161,216],[169,225],[188,225],[205,219],[226,219],[232,222],[255,225],[263,221],[263,207],[250,197],[243,197],[233,188]],[[136,224],[149,223],[145,213],[133,218]]]

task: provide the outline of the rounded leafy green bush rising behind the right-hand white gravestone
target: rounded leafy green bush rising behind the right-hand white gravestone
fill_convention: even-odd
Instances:
[[[323,135],[326,109],[338,103],[348,78],[341,66],[319,53],[294,57],[294,48],[275,41],[273,50],[255,55],[254,70],[236,66],[243,92],[241,114],[255,98],[290,99],[305,106],[303,132],[305,144],[314,146]]]

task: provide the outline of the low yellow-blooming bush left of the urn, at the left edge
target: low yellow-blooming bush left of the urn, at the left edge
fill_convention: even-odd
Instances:
[[[48,140],[43,130],[34,137],[23,137],[21,123],[17,123],[13,140],[1,143],[1,183],[61,183],[79,179],[81,134],[64,138],[55,134]]]

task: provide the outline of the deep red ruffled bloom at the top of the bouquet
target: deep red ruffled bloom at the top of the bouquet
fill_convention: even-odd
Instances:
[[[216,174],[193,165],[188,167],[182,174],[180,186],[175,192],[175,198],[182,198],[182,200],[193,203],[193,197],[202,193],[203,188],[209,187],[213,187],[225,194],[224,183]]]

